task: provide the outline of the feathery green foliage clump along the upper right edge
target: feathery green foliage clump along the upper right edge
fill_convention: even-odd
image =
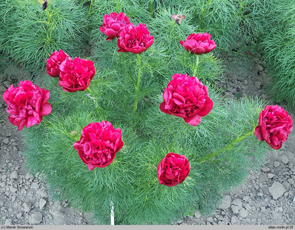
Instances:
[[[273,78],[271,94],[279,103],[295,109],[295,1],[273,5],[261,38],[266,65]]]

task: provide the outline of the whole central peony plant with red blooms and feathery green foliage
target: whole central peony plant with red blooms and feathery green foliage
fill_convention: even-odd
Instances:
[[[51,105],[49,92],[29,82],[3,94],[20,127],[28,124],[28,165],[46,176],[55,198],[92,212],[99,224],[110,223],[111,210],[116,224],[171,224],[192,209],[209,214],[223,192],[263,165],[270,147],[282,146],[292,119],[257,98],[220,97],[209,34],[189,35],[183,52],[184,23],[169,17],[163,43],[144,23],[106,15],[102,25],[113,31],[103,34],[110,40],[118,32],[118,52],[105,39],[92,61],[55,51],[44,80]]]

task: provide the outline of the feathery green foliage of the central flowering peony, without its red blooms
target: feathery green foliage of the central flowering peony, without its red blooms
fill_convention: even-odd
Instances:
[[[209,161],[198,160],[253,132],[264,104],[251,98],[222,100],[210,86],[210,79],[221,73],[220,62],[212,54],[202,55],[197,73],[209,86],[214,106],[198,126],[190,126],[159,109],[161,93],[171,80],[168,73],[174,70],[163,69],[164,75],[160,74],[163,63],[156,57],[162,52],[157,51],[156,41],[141,54],[139,95],[134,93],[136,55],[113,53],[114,42],[105,43],[108,64],[99,55],[93,57],[97,73],[90,92],[67,93],[57,86],[56,78],[45,79],[53,110],[39,126],[25,130],[27,165],[46,178],[54,198],[68,199],[74,207],[93,213],[99,224],[110,223],[110,200],[116,224],[170,224],[187,210],[209,214],[224,191],[241,183],[250,168],[264,163],[265,143],[258,144],[252,135]],[[190,58],[194,55],[184,53],[180,59],[186,62],[172,59],[175,72],[191,72],[184,64]],[[133,112],[135,96],[139,105]],[[125,144],[109,166],[89,171],[73,144],[84,126],[101,120],[120,127]],[[191,166],[188,178],[174,187],[160,185],[157,179],[156,167],[168,152],[185,155]]]

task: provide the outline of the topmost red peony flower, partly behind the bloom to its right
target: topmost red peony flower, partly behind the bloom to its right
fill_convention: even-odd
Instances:
[[[124,13],[113,12],[103,16],[103,24],[99,30],[107,35],[107,41],[110,41],[118,37],[121,28],[128,24],[130,24],[129,18]]]

